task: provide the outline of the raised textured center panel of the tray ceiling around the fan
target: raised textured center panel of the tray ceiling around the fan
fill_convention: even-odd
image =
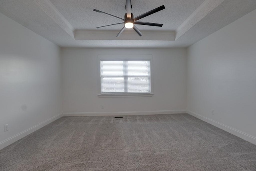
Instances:
[[[125,0],[50,0],[75,29],[92,30],[99,26],[119,23],[120,20],[92,11],[97,9],[124,18]],[[134,17],[164,5],[166,9],[140,21],[164,24],[162,28],[139,25],[141,30],[176,30],[204,0],[132,0]],[[101,30],[120,30],[110,26]]]

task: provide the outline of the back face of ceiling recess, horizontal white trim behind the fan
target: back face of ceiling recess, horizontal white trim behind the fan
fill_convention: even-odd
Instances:
[[[118,30],[75,30],[75,40],[163,40],[174,41],[175,31],[141,31],[140,37],[133,30],[124,30],[120,37],[116,37]]]

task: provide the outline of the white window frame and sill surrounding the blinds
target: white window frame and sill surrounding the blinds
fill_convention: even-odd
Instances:
[[[150,93],[101,93],[100,61],[101,60],[150,60]],[[98,55],[98,97],[149,97],[153,96],[153,56],[152,55]]]

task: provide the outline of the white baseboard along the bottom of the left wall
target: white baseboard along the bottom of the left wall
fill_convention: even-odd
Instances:
[[[45,125],[55,121],[56,119],[59,119],[62,116],[63,116],[62,113],[58,114],[58,115],[56,115],[56,116],[54,116],[54,117],[52,117],[50,119],[47,119],[46,121],[38,123],[37,125],[35,125],[35,126],[31,127],[31,128],[28,128],[25,131],[22,131],[22,132],[20,132],[20,133],[18,133],[16,135],[6,139],[6,140],[0,142],[0,149],[3,149],[4,147],[7,147],[8,145],[11,145],[12,143],[18,141],[19,139],[22,139],[23,137],[26,137],[30,133],[32,133],[32,132],[34,132],[34,131],[44,127]]]

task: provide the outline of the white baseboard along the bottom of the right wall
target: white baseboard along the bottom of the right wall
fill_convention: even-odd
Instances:
[[[253,144],[256,145],[256,137],[253,137],[252,135],[249,135],[247,133],[244,133],[242,131],[239,131],[237,129],[234,129],[232,127],[224,125],[220,122],[214,121],[214,120],[212,120],[208,117],[205,117],[203,115],[200,115],[198,113],[195,113],[195,112],[192,112],[192,111],[187,111],[187,113],[194,116],[194,117],[197,117],[198,119],[201,119],[201,120],[203,120],[207,123],[210,123],[211,125],[214,125],[214,126],[220,128],[220,129],[223,129],[224,131],[227,131],[227,132],[229,132],[233,135],[236,135],[237,137],[240,137],[240,138],[244,139],[245,141],[248,141],[248,142],[253,143]]]

